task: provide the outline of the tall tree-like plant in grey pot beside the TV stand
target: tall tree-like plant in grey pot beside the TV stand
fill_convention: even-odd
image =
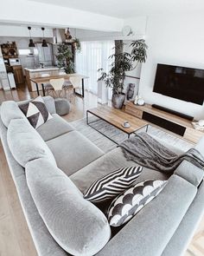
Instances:
[[[119,52],[109,59],[114,59],[111,69],[108,73],[104,69],[99,69],[99,81],[104,81],[107,87],[112,88],[112,105],[114,108],[122,108],[124,104],[124,78],[125,72],[133,70],[139,62],[145,62],[147,54],[147,45],[143,39],[133,41],[130,45],[131,54],[127,52]]]

